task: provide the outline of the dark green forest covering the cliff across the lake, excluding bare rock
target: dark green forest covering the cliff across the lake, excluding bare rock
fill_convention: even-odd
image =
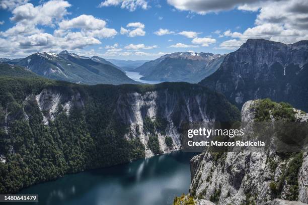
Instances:
[[[61,104],[54,118],[44,124],[46,111],[36,96],[43,89],[61,93],[64,98],[76,93],[67,115]],[[165,134],[166,119],[143,119],[152,133],[147,144],[138,137],[125,138],[129,125],[115,115],[116,102],[128,92],[144,93],[168,89],[173,93],[208,94],[208,107],[218,119],[238,119],[239,111],[223,95],[189,83],[158,85],[80,85],[40,77],[0,77],[0,193],[15,193],[23,187],[53,180],[66,173],[110,166],[144,158],[144,146],[160,154],[155,133]],[[177,101],[178,106],[183,99]],[[181,111],[181,109],[179,109]],[[180,116],[180,114],[178,114]],[[174,118],[178,118],[175,116]],[[172,139],[166,144],[172,147]]]

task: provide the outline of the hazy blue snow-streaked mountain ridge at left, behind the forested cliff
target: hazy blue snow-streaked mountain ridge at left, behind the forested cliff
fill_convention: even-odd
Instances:
[[[93,60],[93,59],[94,60]],[[84,57],[67,51],[55,53],[35,53],[19,61],[7,61],[31,70],[50,79],[82,84],[124,84],[138,82],[103,58]],[[99,62],[101,61],[101,62]],[[103,63],[105,62],[105,63]]]

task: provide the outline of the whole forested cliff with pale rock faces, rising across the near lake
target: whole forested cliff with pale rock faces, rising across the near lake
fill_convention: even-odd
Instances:
[[[183,123],[240,117],[223,95],[189,83],[0,81],[1,193],[178,150]]]

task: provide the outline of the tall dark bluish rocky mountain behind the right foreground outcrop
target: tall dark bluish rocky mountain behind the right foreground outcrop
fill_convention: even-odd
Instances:
[[[239,108],[247,100],[269,97],[308,111],[307,77],[308,41],[286,45],[250,39],[200,84],[222,92]]]

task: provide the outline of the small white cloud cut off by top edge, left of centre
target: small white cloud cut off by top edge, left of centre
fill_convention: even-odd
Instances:
[[[144,10],[149,8],[145,0],[105,0],[99,5],[99,7],[110,7],[119,5],[121,5],[122,9],[127,9],[130,12],[135,11],[137,8],[141,8]]]

